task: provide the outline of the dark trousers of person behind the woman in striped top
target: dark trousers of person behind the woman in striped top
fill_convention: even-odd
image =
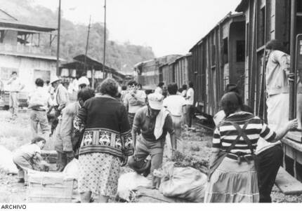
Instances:
[[[257,155],[258,188],[260,203],[271,203],[270,193],[273,189],[277,172],[282,164],[283,151],[281,144],[270,147]]]

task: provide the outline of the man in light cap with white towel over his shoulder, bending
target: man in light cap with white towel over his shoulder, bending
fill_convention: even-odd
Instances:
[[[136,150],[129,158],[129,167],[145,177],[162,167],[167,132],[171,137],[172,151],[176,150],[172,118],[169,111],[164,109],[163,100],[164,96],[159,93],[148,95],[147,105],[138,109],[134,116],[132,137]],[[136,142],[139,131],[142,137]],[[145,161],[149,155],[151,161]],[[159,184],[160,178],[152,176],[152,185],[158,188]]]

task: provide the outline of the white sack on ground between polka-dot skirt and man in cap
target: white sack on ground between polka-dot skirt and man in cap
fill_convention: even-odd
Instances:
[[[138,189],[138,187],[149,187],[151,181],[136,172],[129,172],[119,177],[119,184],[117,186],[117,196],[124,200],[131,200],[131,191]]]

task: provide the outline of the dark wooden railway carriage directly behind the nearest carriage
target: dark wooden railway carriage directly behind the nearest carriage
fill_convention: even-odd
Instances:
[[[220,109],[225,85],[244,88],[245,18],[228,15],[190,49],[189,80],[194,83],[200,111],[213,116]]]

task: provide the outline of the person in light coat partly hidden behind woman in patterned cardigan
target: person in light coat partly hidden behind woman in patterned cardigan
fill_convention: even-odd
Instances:
[[[79,148],[79,135],[74,132],[73,121],[79,113],[79,109],[84,106],[86,100],[94,97],[94,90],[82,88],[77,94],[77,102],[72,102],[62,111],[62,118],[58,123],[55,135],[55,151],[58,152],[57,170],[63,171],[65,166],[72,161]]]

